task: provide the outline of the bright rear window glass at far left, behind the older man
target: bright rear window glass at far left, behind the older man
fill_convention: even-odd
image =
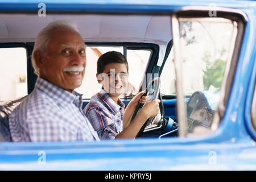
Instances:
[[[0,48],[0,101],[27,95],[27,51]]]

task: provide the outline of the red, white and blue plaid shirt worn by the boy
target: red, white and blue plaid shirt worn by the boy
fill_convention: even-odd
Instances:
[[[123,111],[125,104],[118,99],[115,103],[105,90],[92,96],[84,108],[86,117],[100,139],[115,139],[123,130]]]

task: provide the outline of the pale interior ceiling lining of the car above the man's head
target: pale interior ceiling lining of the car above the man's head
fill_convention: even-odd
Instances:
[[[72,20],[85,42],[142,42],[166,45],[171,40],[170,16],[92,14],[0,14],[0,42],[34,42],[54,20]]]

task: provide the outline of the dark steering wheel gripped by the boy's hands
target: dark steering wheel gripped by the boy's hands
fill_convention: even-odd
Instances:
[[[156,98],[159,98],[159,96],[160,96],[160,78],[159,77],[154,78],[150,82],[150,84],[147,86],[146,92],[143,94],[143,96],[146,96],[147,94],[148,94],[148,98],[147,98],[147,100],[144,104],[146,104],[147,101],[149,101],[149,100],[155,100]],[[163,117],[163,102],[162,102],[161,97],[160,97],[160,101],[161,101],[160,105],[162,106],[161,118],[164,118]],[[133,117],[131,117],[131,122],[136,117],[138,111],[142,109],[144,104],[139,103],[136,106],[136,108],[134,110],[134,113],[133,113]],[[143,134],[143,131],[144,131],[145,127],[147,126],[147,123],[153,123],[156,120],[156,118],[157,118],[157,115],[155,117],[148,118],[147,121],[144,123],[144,125],[139,130],[139,132],[138,132],[138,134],[136,135],[135,138],[140,138]]]

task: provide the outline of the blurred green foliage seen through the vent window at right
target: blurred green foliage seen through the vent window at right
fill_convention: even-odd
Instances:
[[[213,62],[207,61],[207,69],[204,72],[204,89],[208,90],[210,85],[220,91],[222,77],[225,70],[225,61],[216,59]]]

